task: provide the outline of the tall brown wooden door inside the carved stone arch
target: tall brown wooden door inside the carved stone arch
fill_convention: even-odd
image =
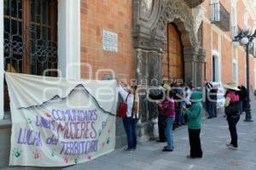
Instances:
[[[167,25],[167,43],[162,59],[162,76],[172,82],[183,82],[184,62],[181,34],[173,23]]]

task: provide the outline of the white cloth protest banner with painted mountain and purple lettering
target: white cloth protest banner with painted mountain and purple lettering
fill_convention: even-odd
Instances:
[[[116,81],[5,77],[12,117],[9,165],[63,167],[114,150]]]

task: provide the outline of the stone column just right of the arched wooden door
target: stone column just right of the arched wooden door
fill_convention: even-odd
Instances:
[[[184,82],[196,86],[196,59],[198,53],[193,47],[183,48]]]

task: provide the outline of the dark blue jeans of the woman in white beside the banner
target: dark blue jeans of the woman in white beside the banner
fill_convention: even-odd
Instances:
[[[136,149],[137,147],[137,133],[136,122],[132,117],[123,118],[125,133],[127,137],[128,149]]]

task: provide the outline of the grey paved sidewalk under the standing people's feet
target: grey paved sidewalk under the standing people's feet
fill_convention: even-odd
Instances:
[[[189,159],[189,139],[187,127],[174,131],[173,152],[163,152],[166,144],[147,142],[139,144],[137,150],[125,152],[123,149],[101,156],[96,160],[66,167],[67,170],[254,170],[256,169],[256,101],[252,102],[254,122],[243,122],[241,116],[237,126],[239,149],[230,150],[225,144],[230,141],[228,124],[223,114],[218,118],[204,120],[201,132],[202,159]]]

